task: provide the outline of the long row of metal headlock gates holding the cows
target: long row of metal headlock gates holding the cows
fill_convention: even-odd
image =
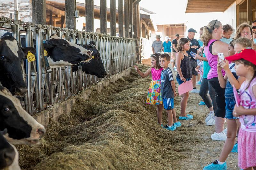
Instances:
[[[34,47],[33,39],[36,40],[36,61],[28,62],[24,59],[22,63],[23,78],[28,88],[22,104],[30,114],[39,112],[99,81],[118,74],[132,67],[136,62],[135,40],[133,39],[33,24],[6,17],[0,17],[0,29],[8,29],[12,32],[20,46],[22,33],[25,33],[26,47]],[[90,41],[94,41],[107,76],[99,79],[81,70],[72,73],[72,66],[54,68],[52,72],[47,72],[43,41],[48,40],[51,34],[57,34],[76,44],[89,44]]]

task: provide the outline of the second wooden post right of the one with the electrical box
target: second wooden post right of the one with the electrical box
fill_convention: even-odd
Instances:
[[[100,33],[107,34],[107,2],[100,0]]]

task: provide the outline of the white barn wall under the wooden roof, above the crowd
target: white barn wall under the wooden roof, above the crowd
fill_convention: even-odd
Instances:
[[[231,25],[235,31],[231,38],[234,38],[236,32],[236,2],[234,2],[226,11],[223,12],[223,19],[225,20],[222,24]]]

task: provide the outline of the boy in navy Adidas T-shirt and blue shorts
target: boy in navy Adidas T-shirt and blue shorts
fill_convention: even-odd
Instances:
[[[164,109],[167,112],[167,125],[163,128],[174,131],[176,127],[180,127],[181,123],[176,118],[176,112],[174,109],[174,97],[177,96],[175,92],[175,82],[171,69],[168,67],[170,63],[169,54],[162,54],[159,57],[160,66],[163,69],[161,72],[161,93],[163,98]],[[174,124],[173,124],[174,119]]]

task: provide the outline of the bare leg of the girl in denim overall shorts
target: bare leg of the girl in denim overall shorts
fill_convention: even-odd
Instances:
[[[236,139],[236,132],[237,132],[237,124],[236,120],[234,119],[227,119],[227,140],[225,141],[225,144],[223,146],[222,152],[220,154],[219,161],[225,162],[228,158],[229,153],[233,149],[233,146],[235,144]]]

